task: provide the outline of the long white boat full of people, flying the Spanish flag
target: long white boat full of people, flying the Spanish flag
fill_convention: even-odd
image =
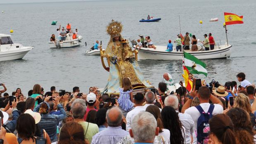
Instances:
[[[135,45],[133,45],[135,48]],[[166,46],[155,45],[156,49],[141,47],[138,52],[138,59],[159,59],[159,60],[180,60],[182,59],[183,52],[177,52],[173,47],[172,52],[166,52]],[[185,50],[185,52],[192,54],[198,59],[221,59],[228,58],[231,54],[232,45],[217,45],[213,50],[205,51],[202,46],[198,45],[198,50],[192,52]],[[191,48],[190,48],[191,49]],[[138,47],[137,47],[138,50]]]

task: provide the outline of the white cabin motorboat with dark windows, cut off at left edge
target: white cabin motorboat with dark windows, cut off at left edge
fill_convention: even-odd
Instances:
[[[32,49],[13,43],[11,35],[0,34],[0,61],[22,59]]]

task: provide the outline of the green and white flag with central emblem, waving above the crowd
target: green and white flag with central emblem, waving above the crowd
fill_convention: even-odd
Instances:
[[[207,76],[206,64],[187,52],[184,52],[184,64],[190,73]]]

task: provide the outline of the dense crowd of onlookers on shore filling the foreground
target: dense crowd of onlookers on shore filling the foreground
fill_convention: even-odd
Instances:
[[[88,94],[79,87],[44,92],[39,84],[9,95],[0,84],[0,143],[255,144],[256,89],[244,73],[237,80],[240,85],[202,81],[190,92],[183,86],[170,92],[175,83],[164,73],[157,89],[141,93],[123,78],[119,95],[97,87]]]

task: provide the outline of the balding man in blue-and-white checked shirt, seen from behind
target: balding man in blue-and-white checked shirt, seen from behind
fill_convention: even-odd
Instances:
[[[129,132],[122,130],[123,113],[119,107],[107,110],[106,121],[107,129],[94,135],[91,144],[116,144],[129,135]]]

